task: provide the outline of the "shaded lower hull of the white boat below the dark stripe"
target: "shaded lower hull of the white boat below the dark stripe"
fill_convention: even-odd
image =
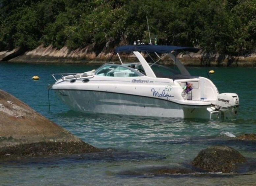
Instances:
[[[216,119],[218,114],[211,113],[209,105],[182,105],[154,97],[87,90],[54,91],[71,110],[83,113],[202,119]]]

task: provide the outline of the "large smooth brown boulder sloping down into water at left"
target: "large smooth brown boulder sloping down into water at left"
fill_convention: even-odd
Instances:
[[[0,90],[0,157],[99,151]]]

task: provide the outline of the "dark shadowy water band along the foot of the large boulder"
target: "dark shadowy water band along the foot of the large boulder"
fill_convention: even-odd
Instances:
[[[63,164],[97,164],[97,163],[112,163],[112,162],[141,162],[141,161],[156,161],[166,159],[164,155],[150,154],[144,151],[128,151],[117,150],[113,148],[102,149],[103,152],[84,153],[76,155],[63,155],[52,157],[33,157],[19,159],[4,159],[0,161],[0,166],[51,166],[52,168]]]

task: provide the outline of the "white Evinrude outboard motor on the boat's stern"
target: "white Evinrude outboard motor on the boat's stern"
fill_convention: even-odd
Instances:
[[[236,93],[217,95],[215,108],[219,111],[219,119],[234,119],[237,115],[239,98]]]

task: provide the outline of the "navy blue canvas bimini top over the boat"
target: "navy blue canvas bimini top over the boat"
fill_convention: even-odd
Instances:
[[[199,48],[190,48],[182,46],[170,46],[170,45],[127,45],[127,46],[118,46],[115,49],[115,52],[158,52],[158,53],[169,53],[171,51],[184,51],[184,52],[198,52]]]

